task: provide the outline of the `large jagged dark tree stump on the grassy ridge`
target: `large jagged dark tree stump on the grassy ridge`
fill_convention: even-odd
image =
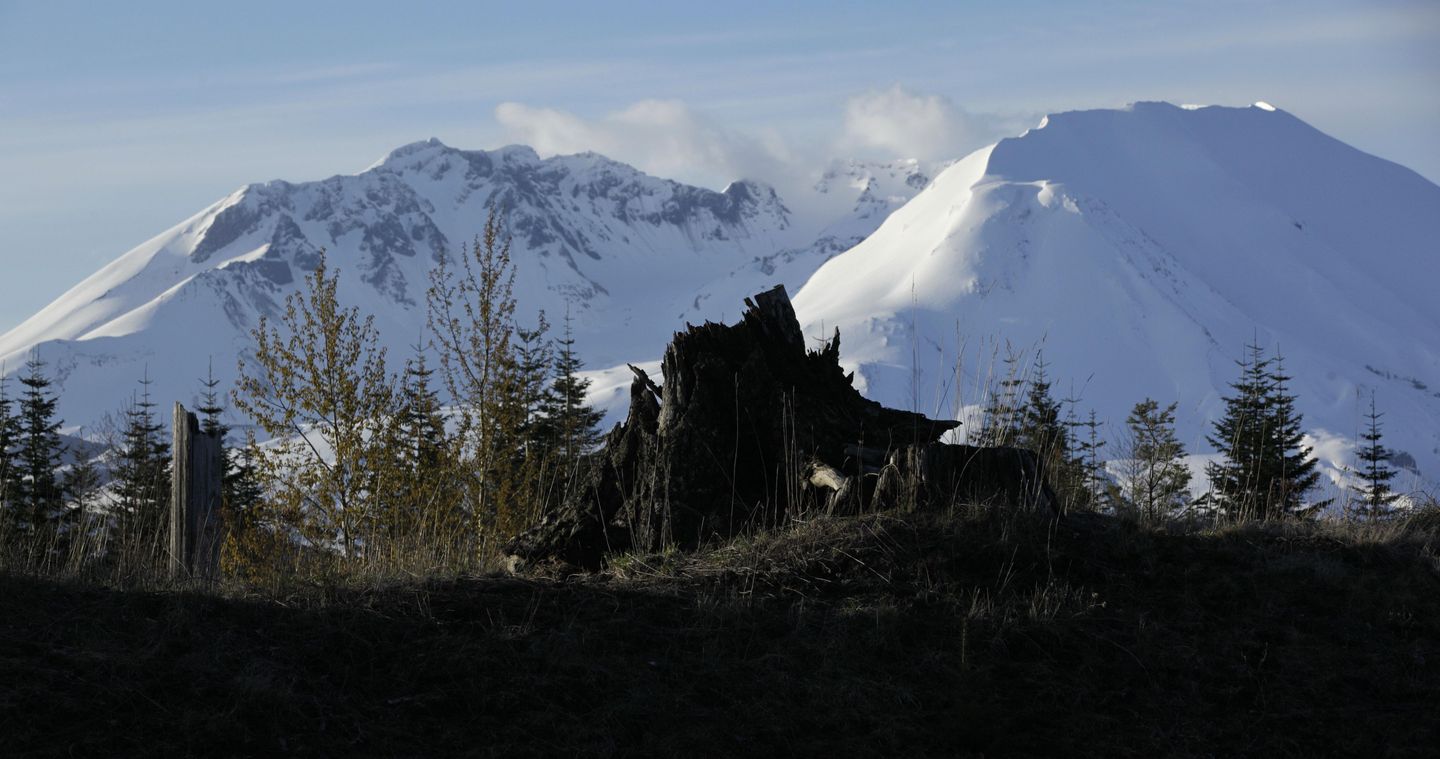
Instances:
[[[739,324],[677,334],[662,387],[632,367],[626,421],[507,553],[599,567],[611,552],[690,549],[802,513],[956,498],[1054,507],[1034,454],[946,445],[959,422],[861,396],[840,367],[838,333],[805,350],[783,287],[746,305]]]

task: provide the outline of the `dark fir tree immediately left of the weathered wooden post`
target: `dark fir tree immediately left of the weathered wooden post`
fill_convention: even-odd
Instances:
[[[128,556],[143,562],[160,556],[170,501],[170,444],[166,426],[150,399],[148,373],[140,380],[140,393],[125,409],[125,426],[111,468],[121,540]]]

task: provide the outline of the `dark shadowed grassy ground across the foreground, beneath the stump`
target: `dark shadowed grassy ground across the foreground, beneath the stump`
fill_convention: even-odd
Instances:
[[[0,753],[1433,756],[1424,518],[819,517],[278,599],[0,578]]]

